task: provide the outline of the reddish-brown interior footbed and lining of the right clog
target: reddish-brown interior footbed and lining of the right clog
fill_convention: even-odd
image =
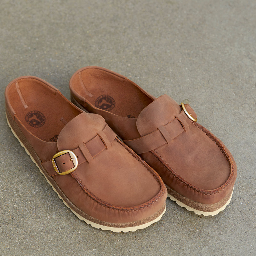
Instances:
[[[86,68],[73,78],[75,90],[96,108],[137,118],[153,99],[131,81],[98,68]]]

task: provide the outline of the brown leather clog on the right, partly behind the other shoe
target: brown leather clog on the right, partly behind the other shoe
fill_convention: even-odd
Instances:
[[[198,124],[188,104],[151,96],[124,76],[85,67],[70,79],[71,101],[103,116],[123,141],[163,179],[168,196],[204,216],[225,209],[236,163],[223,143]]]

